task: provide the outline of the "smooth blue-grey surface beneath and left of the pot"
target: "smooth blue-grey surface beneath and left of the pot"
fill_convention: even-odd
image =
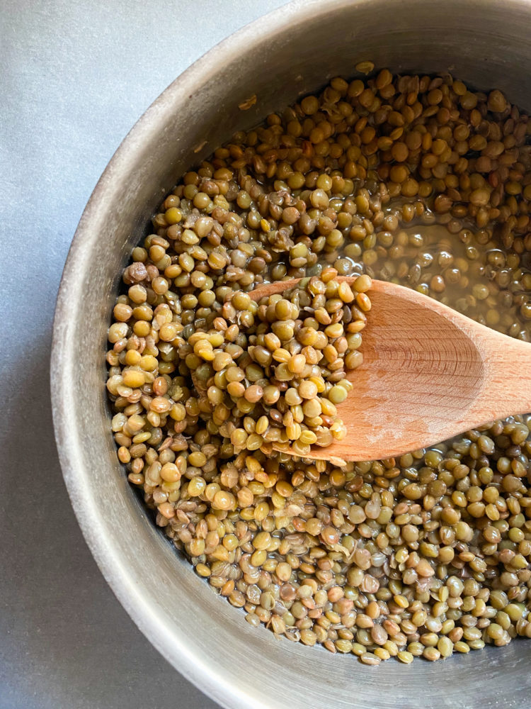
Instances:
[[[120,140],[191,62],[283,0],[0,1],[0,709],[215,709],[105,584],[52,430],[57,287]]]

